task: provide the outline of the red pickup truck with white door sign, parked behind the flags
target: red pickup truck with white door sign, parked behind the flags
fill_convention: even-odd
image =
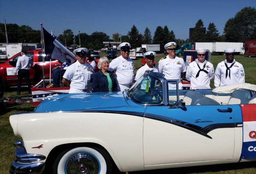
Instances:
[[[30,67],[30,82],[33,85],[39,82],[43,77],[43,56],[42,50],[29,50],[26,54],[28,57],[33,59],[33,66]],[[18,76],[14,75],[16,62],[20,57],[20,53],[14,55],[4,63],[0,63],[0,88],[16,88],[18,82]],[[50,76],[50,60],[45,57],[44,60],[44,77],[49,78]],[[62,63],[56,59],[51,61],[51,72],[55,66],[61,66]],[[52,76],[52,74],[51,74]],[[26,86],[26,81],[23,79],[22,86]]]

